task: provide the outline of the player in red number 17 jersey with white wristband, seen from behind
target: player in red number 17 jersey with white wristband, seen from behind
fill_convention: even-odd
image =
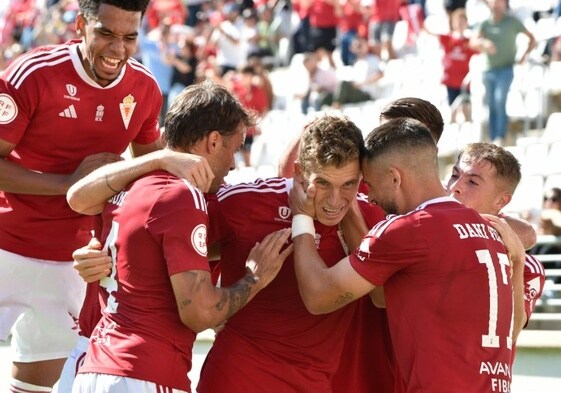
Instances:
[[[369,134],[366,150],[370,201],[399,215],[377,224],[353,254],[327,267],[310,225],[315,186],[302,196],[297,185],[293,242],[304,303],[312,313],[329,313],[384,285],[401,390],[508,387],[513,287],[503,241],[511,260],[522,264],[518,239],[506,224],[484,220],[446,196],[436,145],[420,122],[381,125]]]

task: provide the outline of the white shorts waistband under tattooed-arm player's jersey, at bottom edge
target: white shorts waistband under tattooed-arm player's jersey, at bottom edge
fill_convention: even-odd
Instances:
[[[187,377],[185,377],[187,378]],[[154,382],[107,374],[78,374],[72,393],[187,393]]]

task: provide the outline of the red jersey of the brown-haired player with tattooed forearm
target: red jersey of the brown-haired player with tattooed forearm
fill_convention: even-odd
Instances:
[[[209,270],[203,195],[167,172],[152,172],[114,196],[102,218],[114,267],[100,281],[103,317],[80,372],[190,391],[195,333],[180,320],[170,276]]]

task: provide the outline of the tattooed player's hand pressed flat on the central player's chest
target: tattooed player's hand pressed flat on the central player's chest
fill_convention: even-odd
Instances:
[[[283,249],[291,232],[286,228],[270,233],[249,252],[245,263],[246,270],[260,288],[273,281],[284,260],[292,253],[292,243]]]

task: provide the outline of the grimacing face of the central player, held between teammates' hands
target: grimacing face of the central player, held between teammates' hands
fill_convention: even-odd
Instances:
[[[360,179],[358,160],[340,167],[318,168],[305,177],[316,187],[316,219],[324,225],[338,225],[356,199]]]

